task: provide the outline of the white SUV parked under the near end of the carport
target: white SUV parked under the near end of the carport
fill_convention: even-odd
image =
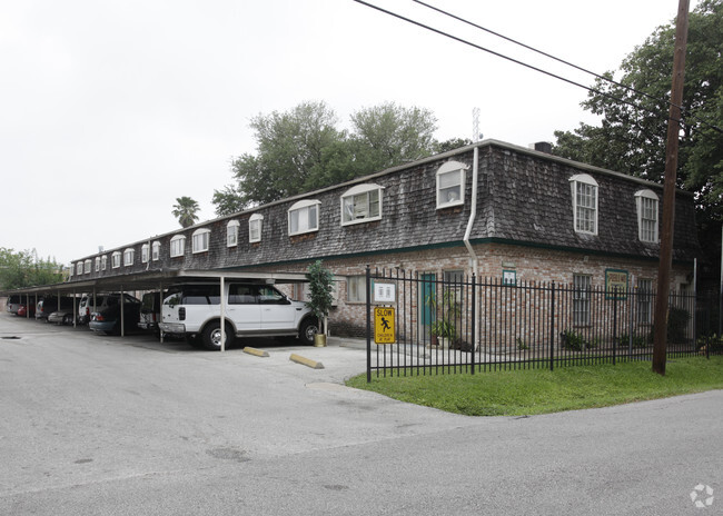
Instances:
[[[269,285],[229,281],[226,296],[226,346],[234,337],[296,337],[314,343],[318,324],[303,301],[293,301]],[[185,284],[168,289],[160,329],[182,335],[207,349],[220,349],[220,286]]]

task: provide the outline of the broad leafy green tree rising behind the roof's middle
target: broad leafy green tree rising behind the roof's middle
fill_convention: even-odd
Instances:
[[[435,151],[434,115],[392,102],[351,116],[351,130],[325,102],[303,102],[251,120],[257,152],[234,160],[234,183],[214,192],[219,216],[324,188]]]

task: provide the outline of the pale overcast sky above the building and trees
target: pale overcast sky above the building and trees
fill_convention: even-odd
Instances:
[[[677,0],[427,0],[595,72],[615,70]],[[410,0],[370,0],[592,85],[572,69]],[[695,6],[692,2],[691,9]],[[527,146],[594,122],[586,91],[353,0],[0,0],[0,247],[59,262],[178,228],[175,199],[215,218],[249,120],[324,100],[438,118],[436,138]]]

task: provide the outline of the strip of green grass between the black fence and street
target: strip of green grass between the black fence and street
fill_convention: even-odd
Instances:
[[[396,371],[395,371],[396,373]],[[650,361],[574,366],[555,370],[432,374],[350,378],[347,385],[394,399],[467,416],[523,416],[607,407],[723,389],[723,356],[667,359],[665,376]],[[404,371],[403,371],[404,375]]]

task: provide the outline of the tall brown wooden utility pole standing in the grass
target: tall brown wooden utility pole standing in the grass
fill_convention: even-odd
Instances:
[[[665,375],[667,350],[667,292],[671,288],[673,262],[673,221],[675,220],[675,178],[677,175],[677,143],[681,131],[681,105],[685,77],[685,47],[687,44],[689,0],[679,0],[675,22],[675,53],[673,54],[673,86],[667,119],[665,145],[665,181],[663,187],[663,234],[657,268],[657,297],[655,298],[655,330],[653,334],[653,373]]]

